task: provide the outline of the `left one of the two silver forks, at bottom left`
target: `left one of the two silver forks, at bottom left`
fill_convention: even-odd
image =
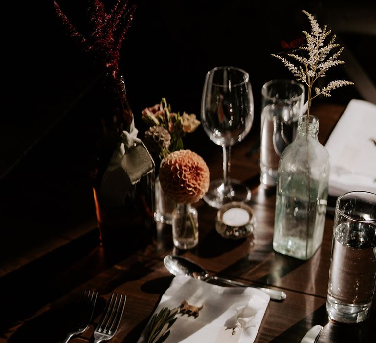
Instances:
[[[73,336],[83,333],[88,328],[93,317],[97,297],[98,292],[84,290],[72,322],[72,331],[66,336],[62,343],[67,343]]]

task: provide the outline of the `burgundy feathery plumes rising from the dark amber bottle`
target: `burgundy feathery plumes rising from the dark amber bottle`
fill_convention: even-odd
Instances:
[[[94,53],[104,63],[104,67],[115,79],[118,78],[120,48],[133,20],[136,5],[128,6],[128,0],[118,0],[109,13],[105,12],[101,1],[93,0],[88,7],[92,32],[84,37],[60,9],[56,1],[57,15],[66,26],[71,37],[84,51]]]

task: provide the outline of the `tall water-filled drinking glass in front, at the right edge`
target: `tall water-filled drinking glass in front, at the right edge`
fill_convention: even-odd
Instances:
[[[376,279],[376,194],[349,192],[337,199],[326,308],[331,319],[367,319]]]

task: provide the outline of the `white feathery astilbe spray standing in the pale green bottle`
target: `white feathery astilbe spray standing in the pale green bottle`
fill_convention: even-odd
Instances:
[[[333,89],[353,85],[353,82],[344,80],[331,81],[322,89],[315,87],[315,95],[312,95],[313,84],[317,79],[325,77],[325,73],[329,68],[345,62],[338,59],[343,48],[340,48],[337,52],[332,51],[339,47],[339,44],[334,43],[336,36],[333,35],[329,43],[325,44],[326,38],[331,34],[331,31],[327,31],[326,25],[321,29],[316,19],[307,11],[303,11],[303,13],[309,19],[311,32],[303,31],[305,45],[299,47],[300,55],[296,53],[287,54],[287,57],[294,60],[294,62],[298,62],[300,65],[296,66],[292,61],[289,61],[286,57],[281,55],[272,54],[272,56],[281,60],[298,81],[308,86],[307,121],[309,121],[309,110],[311,101],[314,98],[319,95],[330,97],[330,92]]]

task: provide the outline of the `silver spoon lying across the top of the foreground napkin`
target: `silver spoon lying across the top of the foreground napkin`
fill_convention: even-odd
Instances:
[[[250,286],[242,282],[225,279],[218,276],[209,276],[208,272],[201,266],[181,256],[167,255],[164,257],[163,263],[167,270],[175,276],[185,275],[194,277],[195,279],[202,281],[215,280],[231,286],[258,288],[259,290],[264,291],[266,294],[268,294],[270,296],[270,299],[277,301],[282,301],[287,296],[283,291],[272,290],[270,288],[264,287]]]

